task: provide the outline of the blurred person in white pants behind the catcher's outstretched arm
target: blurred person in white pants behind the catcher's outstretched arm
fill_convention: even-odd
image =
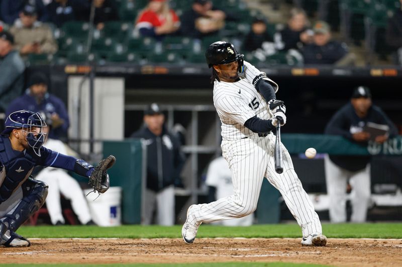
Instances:
[[[49,134],[53,122],[46,115],[42,117],[44,117],[47,124],[47,127],[43,128],[43,132]],[[67,145],[60,140],[52,139],[47,136],[43,146],[49,148],[50,150],[68,155],[66,149]],[[69,151],[72,150],[69,149]],[[92,221],[88,204],[81,187],[73,177],[67,174],[65,170],[52,167],[42,168],[35,178],[44,181],[49,185],[49,192],[46,198],[46,208],[49,212],[52,224],[65,224],[61,209],[60,194],[63,194],[64,198],[71,201],[72,210],[77,215],[81,224],[95,224]]]

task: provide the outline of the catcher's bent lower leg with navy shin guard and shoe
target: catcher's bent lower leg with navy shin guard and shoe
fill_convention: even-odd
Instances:
[[[42,181],[28,178],[22,185],[23,198],[12,212],[0,219],[0,234],[2,234],[1,244],[4,246],[30,246],[31,243],[15,233],[15,231],[38,211],[43,204],[48,193],[48,185]]]

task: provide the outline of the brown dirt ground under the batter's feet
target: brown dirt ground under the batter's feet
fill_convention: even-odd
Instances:
[[[402,239],[333,239],[304,247],[294,238],[31,239],[0,248],[2,263],[186,263],[284,261],[334,266],[401,266]]]

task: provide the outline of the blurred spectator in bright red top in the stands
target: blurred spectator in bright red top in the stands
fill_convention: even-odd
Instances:
[[[179,18],[165,0],[151,0],[136,21],[136,28],[142,36],[151,36],[158,40],[176,32],[179,27]]]

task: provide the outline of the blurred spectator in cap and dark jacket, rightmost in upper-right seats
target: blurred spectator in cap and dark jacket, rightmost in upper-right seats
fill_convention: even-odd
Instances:
[[[303,48],[305,64],[334,64],[336,66],[355,64],[355,55],[348,52],[346,44],[331,41],[330,27],[326,22],[316,22],[313,30],[314,43]]]

